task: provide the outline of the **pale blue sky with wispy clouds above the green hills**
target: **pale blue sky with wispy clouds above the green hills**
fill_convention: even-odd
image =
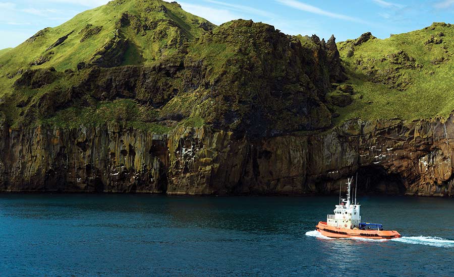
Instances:
[[[0,49],[14,47],[38,30],[54,27],[107,0],[0,0]],[[274,25],[287,34],[337,41],[370,31],[379,38],[454,23],[454,0],[183,0],[186,11],[215,24],[243,18]]]

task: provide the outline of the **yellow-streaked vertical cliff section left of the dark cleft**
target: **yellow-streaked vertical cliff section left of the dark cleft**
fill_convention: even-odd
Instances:
[[[72,131],[31,128],[4,133],[3,191],[166,190],[168,156],[160,151],[165,136],[122,130],[115,124]]]

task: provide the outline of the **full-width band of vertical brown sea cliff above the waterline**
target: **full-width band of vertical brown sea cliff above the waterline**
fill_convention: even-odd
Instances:
[[[356,120],[319,134],[256,141],[207,127],[168,135],[115,124],[3,132],[2,191],[336,193],[339,182],[359,172],[363,192],[454,194],[454,116]]]

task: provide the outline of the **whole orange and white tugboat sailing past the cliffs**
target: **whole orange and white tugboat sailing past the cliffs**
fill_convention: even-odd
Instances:
[[[356,189],[354,203],[350,199],[352,180],[353,178],[348,178],[347,181],[347,200],[341,199],[339,192],[339,204],[334,209],[334,215],[327,215],[326,222],[320,221],[316,226],[317,231],[330,238],[400,238],[398,231],[385,231],[382,224],[361,222],[361,205],[356,201]]]

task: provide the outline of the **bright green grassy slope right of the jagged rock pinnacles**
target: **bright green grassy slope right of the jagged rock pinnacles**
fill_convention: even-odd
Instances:
[[[454,25],[434,23],[383,40],[364,34],[338,48],[356,94],[338,109],[337,122],[432,118],[454,109]]]

